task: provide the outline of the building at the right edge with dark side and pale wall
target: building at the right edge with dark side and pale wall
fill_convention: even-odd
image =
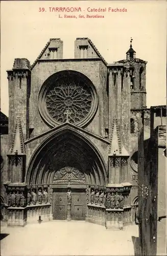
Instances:
[[[139,127],[136,217],[140,255],[166,255],[166,106],[152,106],[149,113],[142,110]]]

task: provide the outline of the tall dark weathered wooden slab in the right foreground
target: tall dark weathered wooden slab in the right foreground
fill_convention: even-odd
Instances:
[[[156,255],[158,136],[144,141],[144,129],[138,143],[138,220],[141,255]]]

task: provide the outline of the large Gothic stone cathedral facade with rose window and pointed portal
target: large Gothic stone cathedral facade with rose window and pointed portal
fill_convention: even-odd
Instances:
[[[8,225],[39,216],[111,229],[134,222],[146,64],[132,44],[126,59],[108,64],[89,38],[75,40],[74,59],[63,59],[63,41],[52,38],[32,65],[14,60],[1,121]]]

